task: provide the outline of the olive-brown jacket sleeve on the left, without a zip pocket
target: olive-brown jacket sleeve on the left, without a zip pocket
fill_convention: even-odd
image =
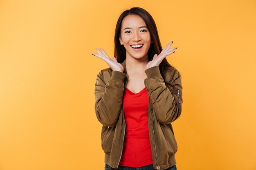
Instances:
[[[97,119],[104,126],[114,126],[119,117],[123,93],[124,77],[121,71],[112,71],[111,78],[105,83],[103,70],[101,70],[95,83],[95,113]]]

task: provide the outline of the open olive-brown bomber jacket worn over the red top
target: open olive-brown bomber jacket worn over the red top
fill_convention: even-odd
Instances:
[[[127,84],[126,59],[122,62],[124,72],[113,71],[110,67],[101,70],[95,83],[95,113],[101,129],[101,148],[105,163],[118,168],[126,123],[124,119],[123,96]],[[182,111],[182,82],[177,69],[168,67],[163,79],[159,66],[145,70],[144,84],[148,93],[148,130],[153,157],[153,166],[165,170],[176,164],[177,142],[172,122]],[[166,85],[164,80],[173,86]]]

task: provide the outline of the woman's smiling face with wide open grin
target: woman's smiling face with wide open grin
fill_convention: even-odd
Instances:
[[[124,45],[124,48],[126,49],[126,58],[148,58],[148,49],[151,44],[150,33],[146,27],[146,23],[139,15],[127,15],[123,19],[119,40],[121,45]],[[141,45],[139,44],[142,44],[143,46],[140,47]]]

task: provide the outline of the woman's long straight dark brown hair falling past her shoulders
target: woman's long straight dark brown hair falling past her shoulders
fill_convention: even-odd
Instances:
[[[115,51],[114,56],[117,59],[117,62],[121,63],[126,59],[126,49],[124,48],[124,45],[121,45],[119,42],[119,37],[121,33],[121,23],[127,15],[139,15],[144,22],[146,23],[146,26],[148,27],[148,30],[150,32],[151,40],[153,40],[153,43],[150,44],[150,47],[148,49],[148,60],[151,61],[155,54],[159,55],[161,53],[162,46],[159,40],[157,26],[155,24],[154,19],[152,16],[146,11],[145,9],[142,9],[140,7],[133,7],[129,10],[124,11],[121,13],[120,17],[117,20],[117,25],[115,29]],[[162,62],[159,64],[159,70],[161,72],[162,77],[165,79],[165,74],[167,71],[167,67],[173,67],[171,64],[168,63],[166,58],[162,60]]]

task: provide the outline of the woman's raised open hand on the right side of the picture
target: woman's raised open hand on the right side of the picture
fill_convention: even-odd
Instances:
[[[155,54],[153,59],[150,62],[148,62],[147,66],[146,66],[146,69],[148,69],[150,67],[153,67],[153,66],[159,66],[159,64],[164,60],[164,58],[167,55],[170,55],[170,54],[174,53],[175,51],[173,51],[173,50],[177,49],[178,47],[175,46],[175,47],[169,49],[171,44],[173,44],[173,41],[168,43],[159,55]]]

